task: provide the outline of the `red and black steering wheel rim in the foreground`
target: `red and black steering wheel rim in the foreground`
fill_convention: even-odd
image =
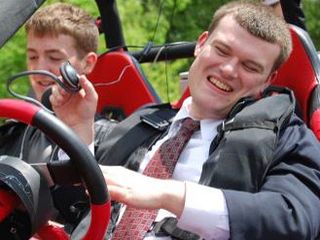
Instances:
[[[14,99],[1,99],[0,117],[17,119],[40,129],[69,155],[72,165],[82,179],[90,196],[91,222],[83,239],[102,239],[110,218],[110,198],[102,172],[87,146],[63,122],[31,103]],[[3,194],[6,195],[3,190],[0,193],[0,199]],[[11,195],[9,193],[7,195],[8,198],[6,199],[10,199]],[[37,197],[41,199],[41,196]],[[13,204],[14,201],[7,202]],[[0,209],[0,221],[1,215],[9,214],[8,208],[6,211]],[[38,227],[41,228],[42,226]],[[33,235],[38,230],[32,229],[31,234]]]

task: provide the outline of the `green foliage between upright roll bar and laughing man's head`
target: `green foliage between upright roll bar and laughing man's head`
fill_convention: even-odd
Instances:
[[[198,35],[208,27],[212,13],[225,2],[227,1],[119,0],[118,8],[127,45],[142,48],[148,42],[159,45],[196,41]],[[176,60],[143,64],[142,68],[162,100],[174,101],[180,96],[179,73],[187,71],[190,63],[190,59]]]

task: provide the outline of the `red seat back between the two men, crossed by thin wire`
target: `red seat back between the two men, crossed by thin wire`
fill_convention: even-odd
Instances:
[[[99,96],[97,112],[108,117],[121,120],[143,105],[161,102],[136,60],[125,51],[100,55],[88,79]]]

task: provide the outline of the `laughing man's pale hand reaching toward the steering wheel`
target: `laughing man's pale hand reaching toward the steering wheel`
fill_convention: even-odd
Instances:
[[[100,166],[111,199],[136,208],[166,209],[180,217],[185,184],[144,176],[124,167]]]

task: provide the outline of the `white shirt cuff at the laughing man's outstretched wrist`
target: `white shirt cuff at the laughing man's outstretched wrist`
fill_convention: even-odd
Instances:
[[[185,206],[177,226],[204,239],[229,239],[228,209],[223,192],[186,182]]]

